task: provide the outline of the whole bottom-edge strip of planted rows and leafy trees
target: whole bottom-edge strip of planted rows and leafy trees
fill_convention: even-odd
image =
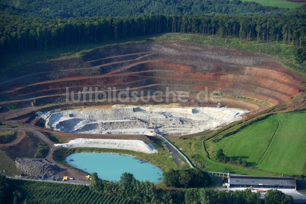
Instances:
[[[119,183],[108,183],[92,174],[90,186],[6,179],[0,175],[0,204],[4,203],[192,203],[259,204],[260,194],[244,191],[217,191],[188,188],[186,191],[157,190],[151,182],[140,182],[124,173]],[[291,204],[293,198],[278,190],[269,190],[265,203]]]

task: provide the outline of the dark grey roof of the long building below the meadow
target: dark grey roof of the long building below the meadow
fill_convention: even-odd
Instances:
[[[293,177],[270,177],[270,176],[230,176],[230,184],[241,185],[269,185],[269,186],[296,186]]]

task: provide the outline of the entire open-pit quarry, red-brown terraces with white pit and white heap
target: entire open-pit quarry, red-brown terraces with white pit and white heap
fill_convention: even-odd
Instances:
[[[57,146],[154,155],[157,149],[139,138],[196,134],[251,118],[293,99],[305,90],[304,81],[278,57],[262,53],[176,40],[123,43],[6,72],[0,77],[0,121],[69,138]],[[121,102],[118,93],[127,87]],[[184,100],[178,100],[181,91]],[[56,163],[56,142],[37,132],[50,148],[46,159]],[[132,140],[119,141],[124,135]]]

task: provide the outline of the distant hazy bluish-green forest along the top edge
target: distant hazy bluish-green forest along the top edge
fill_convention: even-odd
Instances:
[[[278,7],[262,6],[239,0],[12,0],[24,16],[40,17],[136,17],[149,14],[255,13],[283,11]],[[15,8],[14,7],[14,8]]]

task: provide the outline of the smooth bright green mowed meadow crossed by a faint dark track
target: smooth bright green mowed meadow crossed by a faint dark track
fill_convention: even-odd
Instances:
[[[306,175],[306,113],[278,113],[207,143],[268,172]]]

